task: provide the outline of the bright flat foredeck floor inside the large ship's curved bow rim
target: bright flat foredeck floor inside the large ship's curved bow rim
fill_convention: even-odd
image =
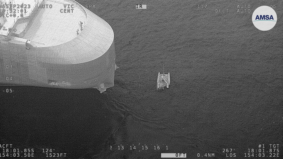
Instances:
[[[35,42],[36,47],[56,46],[74,39],[78,29],[80,33],[80,21],[83,25],[87,21],[84,9],[78,3],[67,0],[46,0],[45,4],[52,5],[52,8],[39,9],[23,38]],[[65,9],[64,4],[74,4],[73,12],[61,13],[60,10]]]

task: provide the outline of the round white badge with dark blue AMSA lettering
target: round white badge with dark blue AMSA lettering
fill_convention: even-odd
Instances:
[[[260,6],[252,14],[252,23],[262,31],[272,29],[277,21],[275,10],[269,6]]]

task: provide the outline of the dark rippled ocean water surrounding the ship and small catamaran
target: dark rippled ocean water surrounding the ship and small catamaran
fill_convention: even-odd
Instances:
[[[120,67],[115,86],[102,94],[16,87],[20,93],[2,103],[2,142],[58,147],[69,158],[226,158],[222,149],[243,158],[259,144],[280,144],[282,158],[280,1],[78,2],[95,5],[91,11],[113,28]],[[136,10],[135,4],[147,9]],[[235,13],[237,4],[250,4],[251,13]],[[276,5],[278,21],[269,31],[251,22],[262,5]],[[215,13],[216,8],[231,12]],[[170,89],[157,91],[163,65]]]

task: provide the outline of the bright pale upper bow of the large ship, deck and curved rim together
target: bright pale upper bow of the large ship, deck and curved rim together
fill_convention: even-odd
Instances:
[[[27,24],[24,33],[18,34],[22,39],[12,38],[13,35],[7,38],[10,41],[5,44],[9,49],[2,52],[0,57],[19,57],[18,60],[22,63],[69,65],[89,62],[99,57],[103,60],[105,57],[102,55],[111,46],[115,47],[111,26],[76,1],[45,0],[44,3],[52,5],[52,8],[39,8],[27,23],[18,21],[17,29]],[[61,13],[60,10],[65,9],[64,4],[73,4],[73,13]],[[82,31],[80,22],[83,22]],[[23,44],[24,41],[29,42],[28,48]],[[9,51],[14,48],[21,50],[21,53]],[[115,52],[114,49],[110,49],[111,51]]]

